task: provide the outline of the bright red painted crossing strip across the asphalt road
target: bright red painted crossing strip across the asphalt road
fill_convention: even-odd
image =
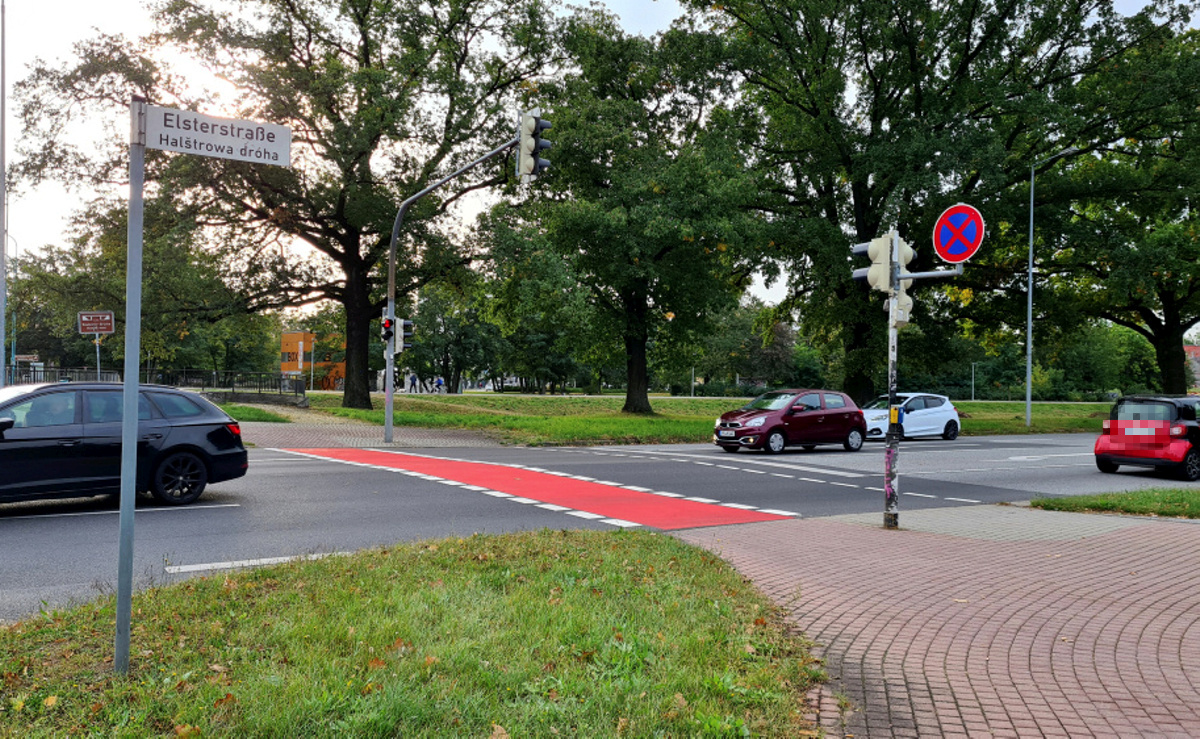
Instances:
[[[668,498],[487,462],[443,459],[371,449],[284,451],[379,469],[408,470],[664,530],[788,519],[787,516]]]

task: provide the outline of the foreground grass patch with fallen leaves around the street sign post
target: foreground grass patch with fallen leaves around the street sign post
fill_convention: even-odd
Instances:
[[[809,644],[647,531],[402,545],[0,626],[0,735],[816,735]]]

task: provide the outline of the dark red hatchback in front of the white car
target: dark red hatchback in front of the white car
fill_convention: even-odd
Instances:
[[[812,449],[841,444],[858,451],[866,421],[848,395],[833,390],[773,390],[716,419],[713,443],[725,451],[742,447],[779,453],[786,446]]]

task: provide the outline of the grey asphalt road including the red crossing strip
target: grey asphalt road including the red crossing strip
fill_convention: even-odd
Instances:
[[[1093,440],[1056,434],[905,441],[901,525],[906,510],[1171,485],[1148,471],[1100,474]],[[672,529],[745,519],[739,516],[871,511],[882,523],[882,443],[857,453],[829,446],[778,456],[701,444],[342,451],[355,458],[253,449],[246,477],[210,487],[194,505],[139,501],[136,587],[276,558],[473,533]],[[110,593],[116,547],[116,507],[108,500],[0,505],[0,620]]]

